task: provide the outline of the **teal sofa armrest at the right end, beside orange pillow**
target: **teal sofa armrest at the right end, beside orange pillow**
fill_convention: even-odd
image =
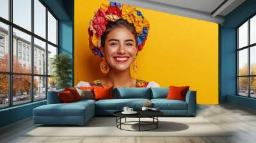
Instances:
[[[196,91],[188,91],[186,94],[186,103],[188,103],[188,115],[196,115]]]

